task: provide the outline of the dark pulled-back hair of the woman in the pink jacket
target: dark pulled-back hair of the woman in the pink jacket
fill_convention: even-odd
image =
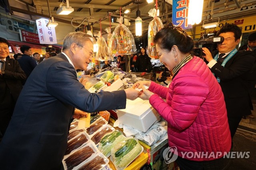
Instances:
[[[154,37],[154,43],[161,49],[171,51],[173,45],[177,45],[182,53],[189,53],[193,47],[193,39],[180,27],[169,23]]]

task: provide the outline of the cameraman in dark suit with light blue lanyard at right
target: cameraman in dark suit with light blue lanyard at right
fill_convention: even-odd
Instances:
[[[235,24],[225,24],[217,33],[224,42],[217,45],[218,54],[213,58],[209,49],[203,47],[204,57],[209,62],[224,94],[228,113],[228,124],[233,138],[239,122],[245,115],[251,114],[252,102],[248,91],[247,75],[252,69],[252,52],[240,52],[236,45],[240,42],[242,31]]]

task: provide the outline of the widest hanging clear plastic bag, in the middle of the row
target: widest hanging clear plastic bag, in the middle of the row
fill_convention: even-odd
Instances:
[[[110,38],[108,45],[108,52],[112,55],[129,55],[137,53],[136,45],[132,33],[128,28],[122,24],[123,17],[117,19],[117,22],[120,23],[117,26]]]

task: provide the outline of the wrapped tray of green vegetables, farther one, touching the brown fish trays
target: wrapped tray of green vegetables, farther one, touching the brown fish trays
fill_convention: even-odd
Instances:
[[[114,132],[110,132],[105,134],[100,142],[98,149],[100,152],[102,152],[106,157],[110,156],[111,154],[111,149],[118,143],[122,142],[126,139],[124,135],[122,135],[121,132],[115,130]]]

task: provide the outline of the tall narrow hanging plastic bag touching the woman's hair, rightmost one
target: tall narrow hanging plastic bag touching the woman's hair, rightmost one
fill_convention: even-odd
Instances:
[[[155,59],[158,58],[158,56],[156,54],[156,46],[153,42],[154,36],[159,30],[164,28],[161,19],[156,17],[156,13],[156,8],[153,8],[148,12],[149,16],[154,17],[154,19],[150,21],[148,25],[148,56]]]

